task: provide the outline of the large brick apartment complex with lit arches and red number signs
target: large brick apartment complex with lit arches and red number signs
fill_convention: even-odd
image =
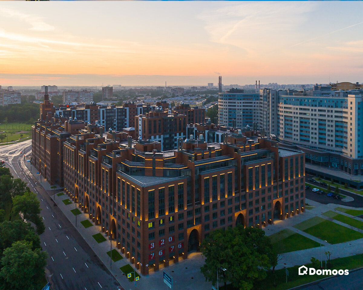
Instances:
[[[51,115],[32,127],[33,165],[143,275],[187,258],[214,229],[263,227],[305,206],[304,153],[275,141],[232,133],[222,143],[178,138],[177,149],[161,151],[154,140],[119,141],[117,132]]]

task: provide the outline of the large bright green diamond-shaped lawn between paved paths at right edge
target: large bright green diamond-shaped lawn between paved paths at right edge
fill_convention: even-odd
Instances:
[[[330,220],[324,220],[303,231],[319,239],[326,240],[330,244],[338,244],[363,238],[363,233],[333,223]]]

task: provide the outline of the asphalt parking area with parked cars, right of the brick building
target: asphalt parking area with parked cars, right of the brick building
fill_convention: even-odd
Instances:
[[[307,181],[308,178],[313,178],[313,176],[312,175],[306,175],[306,181]],[[312,183],[312,182],[309,182],[309,183]],[[320,185],[318,182],[315,182],[315,183],[312,183],[312,184],[316,184],[317,186],[322,187],[322,188],[327,188],[327,186]],[[346,195],[346,196],[351,196],[352,198],[354,198],[353,201],[343,202],[342,200],[335,199],[335,198],[327,196],[326,193],[325,194],[324,193],[323,194],[317,194],[316,192],[311,191],[313,188],[314,188],[314,186],[311,186],[311,188],[305,190],[306,198],[314,200],[314,201],[322,203],[322,204],[336,203],[336,204],[341,204],[343,206],[363,207],[363,196],[347,192],[343,188],[340,188],[340,192],[342,194]],[[332,191],[334,191],[334,189]]]

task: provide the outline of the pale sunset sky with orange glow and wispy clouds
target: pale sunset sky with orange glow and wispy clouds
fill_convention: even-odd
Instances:
[[[361,1],[0,2],[0,85],[363,82]]]

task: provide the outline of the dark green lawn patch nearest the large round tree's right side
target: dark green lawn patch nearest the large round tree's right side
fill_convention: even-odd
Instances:
[[[294,233],[290,229],[284,229],[269,237],[271,238],[272,245],[278,254],[315,248],[320,245],[305,236]]]

